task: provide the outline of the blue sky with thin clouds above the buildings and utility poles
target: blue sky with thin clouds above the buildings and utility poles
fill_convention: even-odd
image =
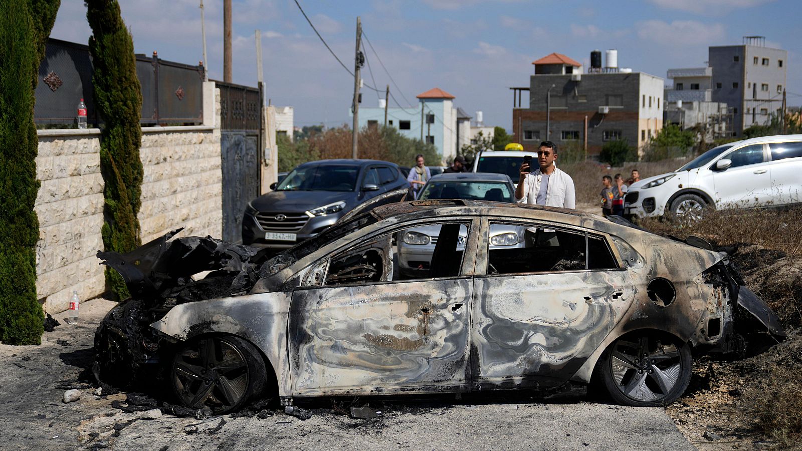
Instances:
[[[621,67],[665,77],[672,67],[701,67],[707,47],[764,35],[788,51],[789,105],[802,104],[799,0],[298,0],[326,42],[353,69],[354,29],[361,16],[373,71],[371,86],[391,84],[407,107],[440,87],[471,116],[510,129],[511,86],[529,86],[532,62],[556,51],[588,65],[593,49],[618,50]],[[120,0],[137,53],[180,63],[202,59],[198,0]],[[87,43],[80,0],[63,0],[51,34]],[[222,0],[205,1],[209,76],[222,79]],[[350,123],[353,78],[326,51],[294,0],[233,1],[233,81],[256,85],[254,31],[261,30],[266,96],[295,108],[295,124]],[[387,67],[399,90],[395,89]],[[404,100],[406,98],[406,100]],[[526,99],[524,100],[526,101]],[[363,107],[378,95],[363,89]],[[391,106],[395,106],[391,100]]]

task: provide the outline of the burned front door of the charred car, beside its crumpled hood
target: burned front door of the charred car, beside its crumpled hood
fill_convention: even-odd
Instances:
[[[294,396],[467,388],[478,240],[469,232],[478,220],[430,223],[440,225],[431,270],[415,278],[400,277],[393,238],[420,221],[359,238],[313,264],[322,283],[310,277],[290,307]]]

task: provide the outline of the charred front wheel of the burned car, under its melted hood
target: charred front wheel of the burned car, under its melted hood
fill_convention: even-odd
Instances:
[[[265,361],[251,343],[233,335],[192,339],[176,349],[169,380],[176,399],[214,414],[240,409],[267,380]]]

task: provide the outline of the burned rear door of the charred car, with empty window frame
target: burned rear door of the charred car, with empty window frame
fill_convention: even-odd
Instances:
[[[569,380],[612,331],[615,310],[634,298],[606,235],[488,219],[482,236],[471,323],[475,386]]]

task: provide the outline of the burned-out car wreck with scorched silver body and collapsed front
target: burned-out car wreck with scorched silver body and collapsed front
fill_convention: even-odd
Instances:
[[[428,225],[439,226],[431,266],[402,278],[393,238]],[[383,205],[269,259],[213,238],[170,238],[99,253],[132,294],[95,335],[100,374],[130,380],[159,368],[181,402],[214,412],[267,392],[284,405],[548,394],[592,378],[620,404],[663,405],[687,388],[692,351],[743,352],[751,335],[784,336],[726,253],[576,210]]]

